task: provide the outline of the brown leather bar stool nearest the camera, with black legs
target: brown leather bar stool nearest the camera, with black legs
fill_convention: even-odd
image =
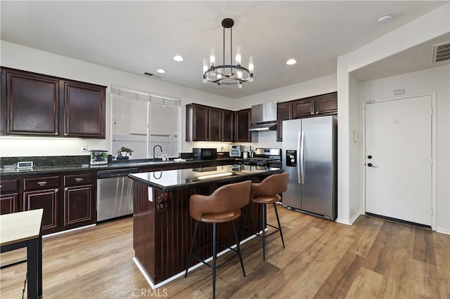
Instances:
[[[233,184],[221,186],[209,196],[193,194],[189,198],[189,213],[191,215],[191,218],[195,219],[195,230],[192,237],[191,251],[186,263],[186,273],[184,274],[184,277],[186,278],[188,276],[189,262],[191,261],[191,257],[210,267],[212,269],[212,298],[215,298],[216,296],[216,269],[224,265],[236,255],[238,255],[239,257],[240,267],[242,267],[242,272],[245,277],[244,263],[242,260],[242,255],[240,254],[239,239],[236,232],[236,225],[234,223],[234,220],[239,218],[240,208],[248,205],[248,202],[250,200],[251,187],[252,181],[247,180],[245,182],[236,182]],[[202,250],[207,246],[210,246],[211,244],[207,244],[206,246],[193,251],[199,222],[212,223],[212,265],[195,255],[196,252]],[[234,238],[236,241],[236,249],[224,244],[220,244],[217,241],[217,224],[225,222],[231,222]],[[236,255],[232,255],[231,257],[224,260],[224,262],[220,265],[216,265],[217,244],[225,246],[225,248],[229,248],[231,251],[234,251]]]

